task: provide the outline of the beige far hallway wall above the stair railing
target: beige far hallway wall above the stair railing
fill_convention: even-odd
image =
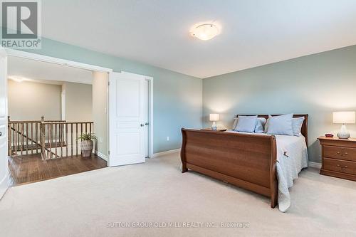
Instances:
[[[11,120],[61,120],[61,85],[8,82]]]

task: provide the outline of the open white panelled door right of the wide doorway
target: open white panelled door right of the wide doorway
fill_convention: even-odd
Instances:
[[[110,167],[145,162],[145,102],[145,76],[110,74]]]

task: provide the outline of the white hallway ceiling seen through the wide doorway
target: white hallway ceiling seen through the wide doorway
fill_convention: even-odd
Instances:
[[[17,76],[33,82],[57,85],[63,84],[63,81],[83,84],[93,83],[93,72],[91,70],[12,56],[8,58],[8,65],[9,77]]]

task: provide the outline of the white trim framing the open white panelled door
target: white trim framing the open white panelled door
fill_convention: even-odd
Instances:
[[[120,71],[118,73],[129,73],[129,74],[135,74],[135,75],[142,75],[142,74],[137,74],[137,73],[130,73],[130,72],[127,72],[127,71]],[[148,91],[147,91],[147,94],[148,94],[148,107],[147,107],[147,112],[148,112],[148,123],[149,123],[149,126],[148,126],[148,143],[149,143],[149,151],[148,151],[148,158],[153,158],[153,126],[154,126],[154,123],[153,123],[153,78],[148,76],[148,75],[142,75],[145,80],[147,80],[147,82],[149,83],[148,84]],[[109,78],[108,78],[108,81],[109,81],[109,86],[110,86],[110,81],[112,80],[112,73],[109,73]],[[110,90],[108,88],[108,98],[110,98]],[[109,103],[109,102],[108,102]],[[108,106],[108,115],[110,114],[110,106]],[[110,122],[108,121],[108,125],[110,125]],[[108,137],[110,139],[110,127],[108,129]],[[109,157],[110,157],[110,142],[109,142],[109,139],[108,139],[108,146],[109,146]],[[109,162],[108,162],[108,166],[110,167],[110,159],[109,159]]]

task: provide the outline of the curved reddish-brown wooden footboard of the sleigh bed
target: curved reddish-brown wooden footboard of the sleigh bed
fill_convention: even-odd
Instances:
[[[192,169],[271,197],[277,205],[276,137],[182,129],[182,172]]]

